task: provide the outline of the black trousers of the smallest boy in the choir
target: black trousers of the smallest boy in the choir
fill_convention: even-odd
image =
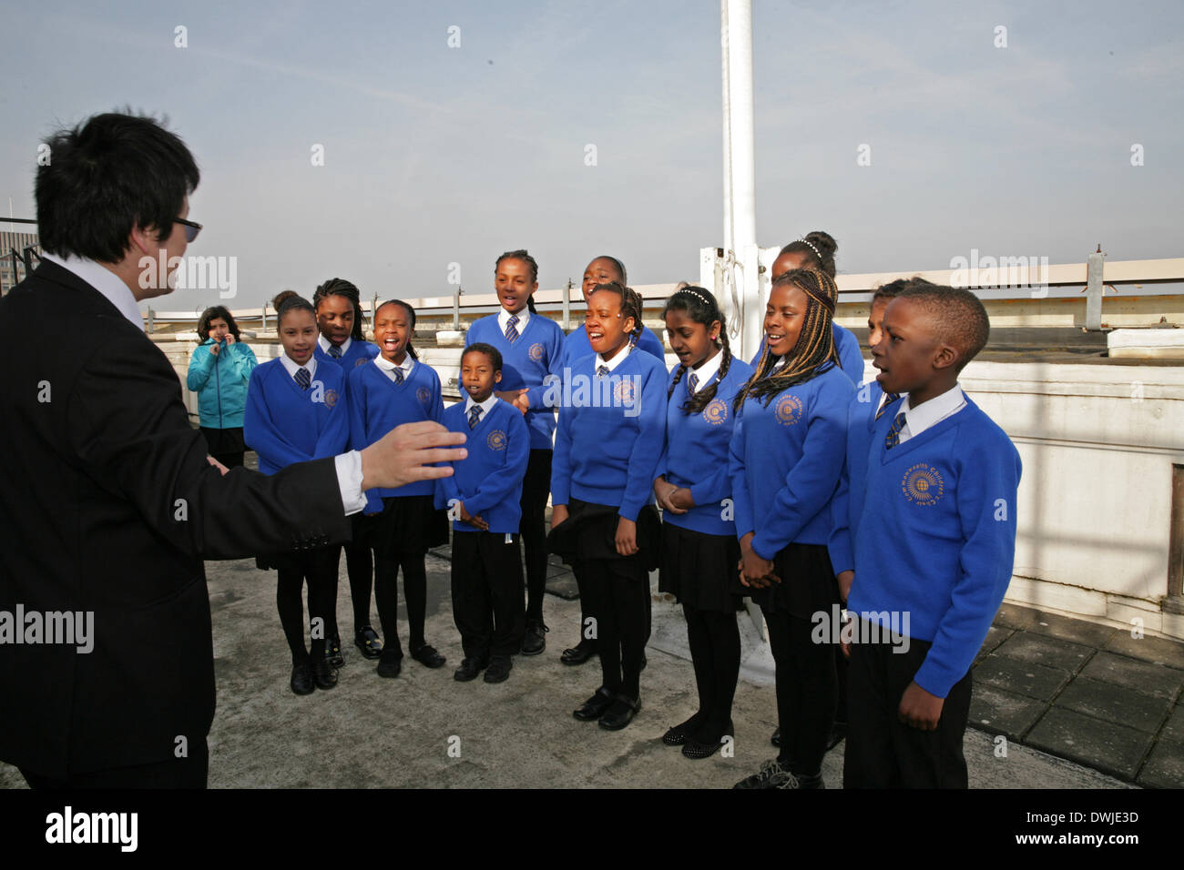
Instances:
[[[519,536],[452,533],[452,619],[464,657],[513,656],[526,633]]]

